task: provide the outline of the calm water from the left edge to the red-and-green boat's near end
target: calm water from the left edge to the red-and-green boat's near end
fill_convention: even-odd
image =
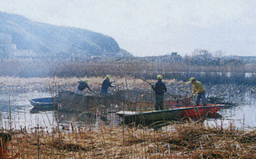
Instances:
[[[71,128],[72,126],[97,127],[101,124],[118,125],[120,119],[111,113],[108,116],[101,114],[90,114],[89,112],[72,113],[63,111],[38,111],[30,104],[31,98],[50,97],[50,93],[21,93],[17,95],[1,95],[0,126],[3,128],[34,130],[43,128],[51,132],[52,128]]]

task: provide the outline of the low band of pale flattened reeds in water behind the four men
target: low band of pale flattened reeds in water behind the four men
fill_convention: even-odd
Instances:
[[[20,78],[20,77],[0,77],[0,92],[6,95],[12,95],[13,93],[28,93],[28,92],[49,92],[52,96],[57,95],[61,90],[76,91],[79,80],[88,80],[88,85],[96,93],[100,93],[100,87],[104,77],[44,77],[44,78]],[[118,93],[118,91],[127,91],[127,100],[136,98],[138,100],[147,100],[148,102],[154,102],[154,91],[151,86],[141,79],[136,77],[116,77],[111,76],[113,86],[115,88],[109,88],[110,93]],[[200,79],[198,79],[200,80]],[[147,80],[154,84],[156,80]],[[186,98],[191,94],[192,85],[189,82],[184,82],[177,79],[163,79],[166,84],[170,95],[166,95],[166,100],[174,100],[177,98]],[[254,95],[256,93],[255,86],[246,86],[244,84],[205,84],[206,96],[214,96],[225,100],[225,102],[241,103],[244,100],[244,94],[250,93]],[[131,93],[129,93],[131,92]],[[94,95],[88,89],[84,90],[85,95]],[[175,98],[173,98],[173,96]]]

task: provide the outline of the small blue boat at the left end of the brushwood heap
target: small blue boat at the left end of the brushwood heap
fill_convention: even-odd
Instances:
[[[33,109],[38,110],[57,110],[58,102],[56,102],[55,98],[47,97],[47,98],[35,98],[30,99],[29,102],[34,106]]]

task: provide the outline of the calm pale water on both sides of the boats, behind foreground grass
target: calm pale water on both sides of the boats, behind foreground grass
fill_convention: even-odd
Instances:
[[[85,114],[72,114],[64,112],[47,111],[31,113],[33,106],[29,103],[31,98],[50,97],[49,93],[20,93],[17,95],[0,95],[0,110],[1,121],[0,125],[3,128],[20,129],[25,128],[35,130],[42,128],[51,131],[52,128],[70,128],[70,125],[75,126],[92,126],[97,127],[101,124],[118,125],[120,118],[115,114],[109,114],[108,121],[102,121],[100,117],[88,117]],[[237,107],[222,109],[218,113],[222,116],[221,119],[207,119],[205,124],[229,126],[230,123],[237,128],[255,128],[256,127],[256,102],[255,97],[246,96],[246,103]]]

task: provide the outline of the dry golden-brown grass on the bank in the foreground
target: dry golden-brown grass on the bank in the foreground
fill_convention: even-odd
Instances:
[[[20,158],[256,158],[256,132],[230,125],[173,124],[168,130],[128,126],[72,132],[16,132],[10,153]]]

